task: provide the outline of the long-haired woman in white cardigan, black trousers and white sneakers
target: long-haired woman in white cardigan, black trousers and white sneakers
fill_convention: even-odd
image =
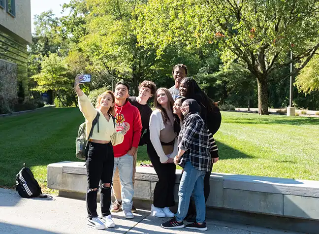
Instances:
[[[180,125],[178,117],[173,114],[174,100],[169,91],[160,88],[155,95],[155,107],[150,117],[150,139],[147,154],[159,177],[154,189],[154,201],[151,208],[156,217],[174,217],[169,207],[175,205],[174,185],[175,171],[174,157],[178,152],[177,133]]]

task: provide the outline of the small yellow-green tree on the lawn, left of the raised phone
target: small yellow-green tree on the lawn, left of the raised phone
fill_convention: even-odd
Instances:
[[[77,105],[72,89],[74,77],[68,73],[64,59],[57,54],[50,53],[48,57],[43,57],[41,67],[41,72],[32,76],[37,83],[33,90],[39,92],[52,90],[53,95],[58,98],[62,105],[68,106],[70,102]]]

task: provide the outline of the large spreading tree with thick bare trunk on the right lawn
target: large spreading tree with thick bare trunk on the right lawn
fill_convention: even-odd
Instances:
[[[297,74],[319,48],[318,0],[150,0],[141,12],[137,38],[158,54],[216,41],[223,62],[239,59],[257,80],[259,114],[268,114],[269,75],[291,62]]]

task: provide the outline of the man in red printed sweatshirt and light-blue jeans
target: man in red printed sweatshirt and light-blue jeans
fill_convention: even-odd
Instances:
[[[141,137],[142,122],[139,110],[128,101],[129,86],[120,81],[115,86],[115,118],[116,130],[122,131],[125,125],[129,125],[128,132],[124,135],[121,144],[113,146],[114,150],[114,169],[119,170],[120,181],[122,185],[122,201],[115,201],[122,204],[122,209],[127,219],[134,218],[132,210],[132,199],[134,188],[132,182],[133,176],[133,155],[136,153],[138,143]]]

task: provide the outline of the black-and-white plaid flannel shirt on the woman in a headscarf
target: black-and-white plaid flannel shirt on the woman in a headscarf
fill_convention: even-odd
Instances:
[[[210,170],[212,144],[208,129],[198,114],[191,114],[184,120],[178,142],[178,147],[186,151],[181,158],[182,167],[191,161],[192,166],[198,170]]]

